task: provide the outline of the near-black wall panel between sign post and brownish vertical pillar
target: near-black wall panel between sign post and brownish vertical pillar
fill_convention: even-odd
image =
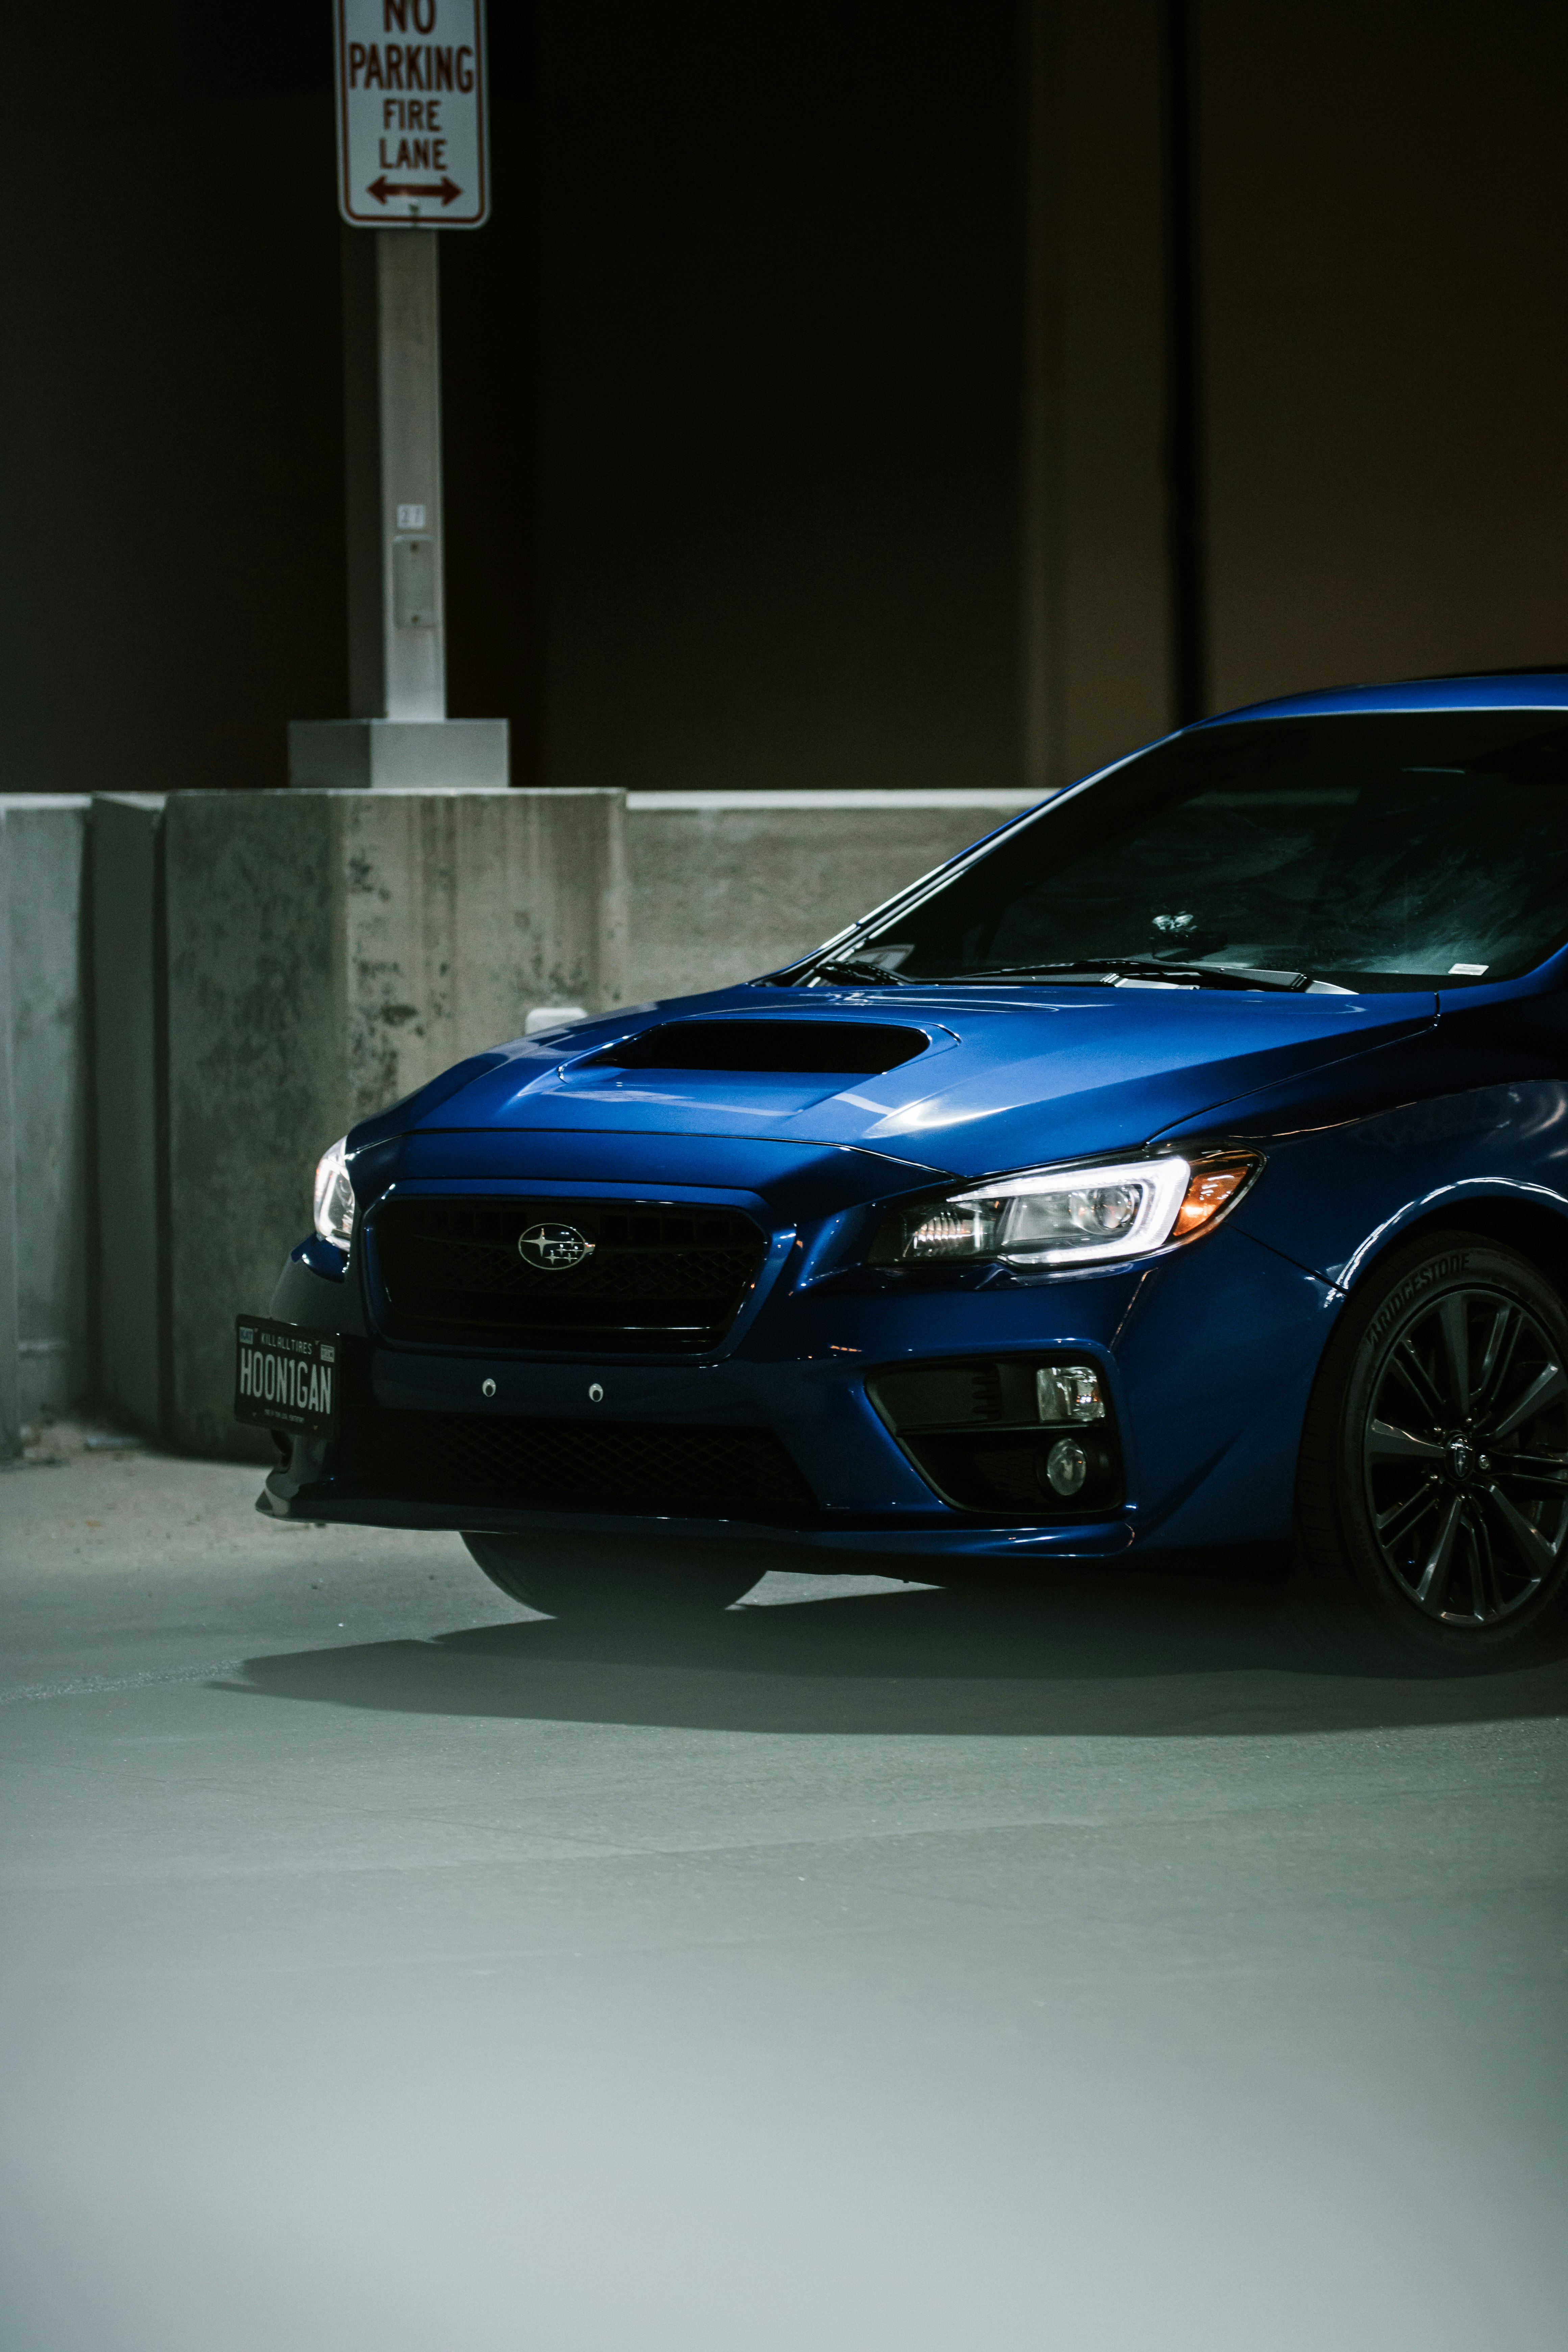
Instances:
[[[1011,781],[1016,12],[538,31],[550,774]]]

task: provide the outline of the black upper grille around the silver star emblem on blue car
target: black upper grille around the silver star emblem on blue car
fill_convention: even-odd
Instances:
[[[569,1225],[592,1251],[529,1265],[517,1242],[536,1225]],[[590,1200],[388,1200],[371,1237],[395,1336],[578,1355],[717,1348],[766,1251],[738,1209]]]

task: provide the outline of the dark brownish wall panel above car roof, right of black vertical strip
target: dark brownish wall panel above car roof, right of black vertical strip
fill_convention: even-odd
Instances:
[[[1568,661],[1568,9],[1199,33],[1213,706]]]

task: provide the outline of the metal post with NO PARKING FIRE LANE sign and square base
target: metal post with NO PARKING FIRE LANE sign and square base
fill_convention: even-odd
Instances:
[[[336,0],[334,14],[355,717],[289,727],[289,781],[505,783],[505,720],[447,717],[435,230],[489,214],[484,5]]]

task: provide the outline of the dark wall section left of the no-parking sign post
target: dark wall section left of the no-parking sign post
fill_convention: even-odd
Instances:
[[[329,99],[183,99],[160,5],[7,49],[5,788],[277,783],[343,706]]]

